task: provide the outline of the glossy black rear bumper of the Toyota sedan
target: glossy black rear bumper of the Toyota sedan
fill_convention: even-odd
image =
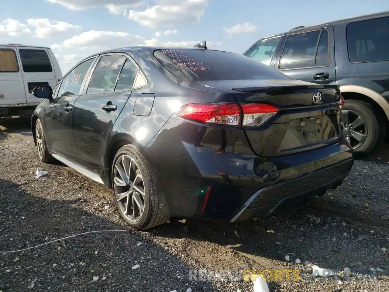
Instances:
[[[353,162],[344,139],[282,157],[259,157],[239,128],[205,127],[179,118],[165,124],[145,147],[144,155],[171,216],[229,221],[266,213],[261,207],[272,209],[285,197],[324,193],[342,182]],[[324,171],[331,167],[336,171],[333,176]],[[319,171],[322,174],[315,175]],[[291,190],[280,191],[292,181],[293,185],[286,185]],[[297,190],[299,184],[312,187]]]

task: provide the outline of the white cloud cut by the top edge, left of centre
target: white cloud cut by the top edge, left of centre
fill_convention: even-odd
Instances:
[[[60,4],[68,9],[81,10],[91,7],[104,6],[111,13],[124,14],[130,7],[143,4],[145,0],[47,0],[50,3]]]

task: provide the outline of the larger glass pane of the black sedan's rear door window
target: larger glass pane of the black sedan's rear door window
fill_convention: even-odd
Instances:
[[[125,61],[126,57],[122,55],[102,56],[92,74],[86,93],[113,92],[117,76]]]

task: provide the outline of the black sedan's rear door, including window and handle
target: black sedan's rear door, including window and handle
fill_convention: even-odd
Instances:
[[[135,62],[124,54],[102,55],[87,81],[85,94],[74,104],[77,162],[90,171],[103,172],[108,135],[131,95],[137,72]]]

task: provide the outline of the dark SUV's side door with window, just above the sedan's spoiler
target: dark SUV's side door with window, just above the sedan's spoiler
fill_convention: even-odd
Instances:
[[[282,52],[275,62],[275,69],[293,79],[335,84],[333,43],[331,25],[309,32],[289,33],[282,39]]]

